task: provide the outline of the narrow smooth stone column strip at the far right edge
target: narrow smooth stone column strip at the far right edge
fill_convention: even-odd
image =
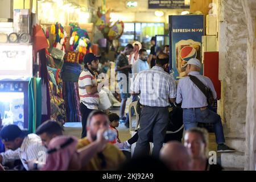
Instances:
[[[247,24],[247,108],[245,170],[256,170],[256,0],[243,0]]]

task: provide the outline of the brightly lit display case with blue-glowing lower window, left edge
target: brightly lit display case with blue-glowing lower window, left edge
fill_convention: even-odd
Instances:
[[[2,125],[28,130],[28,82],[32,44],[0,44],[0,115]]]

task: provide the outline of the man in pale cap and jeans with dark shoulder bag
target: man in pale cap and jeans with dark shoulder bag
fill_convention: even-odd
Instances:
[[[216,99],[216,91],[210,78],[200,75],[201,63],[198,59],[192,58],[185,65],[186,74],[197,77],[207,86]],[[197,127],[197,123],[214,123],[214,133],[218,144],[217,152],[232,152],[233,148],[226,146],[223,127],[220,115],[208,109],[207,98],[204,93],[190,80],[188,76],[181,78],[177,85],[176,103],[183,108],[183,123],[185,130]]]

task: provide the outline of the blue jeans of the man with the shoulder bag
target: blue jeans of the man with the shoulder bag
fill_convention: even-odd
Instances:
[[[225,143],[221,117],[209,109],[183,109],[185,130],[197,127],[197,123],[213,123],[217,144]]]

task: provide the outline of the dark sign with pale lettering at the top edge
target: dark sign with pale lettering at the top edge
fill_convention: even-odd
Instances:
[[[189,9],[184,0],[148,0],[148,9]]]

